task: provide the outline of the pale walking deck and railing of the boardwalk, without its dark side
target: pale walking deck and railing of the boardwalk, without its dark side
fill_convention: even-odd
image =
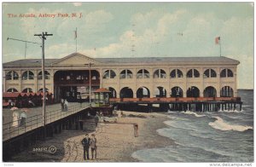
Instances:
[[[61,104],[49,105],[46,107],[46,124],[52,123],[61,118],[66,118],[67,116],[75,112],[79,112],[87,107],[89,107],[89,103],[80,104],[70,102],[68,105],[68,111],[62,112]],[[42,107],[29,108],[26,115],[26,125],[15,127],[13,126],[13,111],[3,109],[3,141],[42,126]]]

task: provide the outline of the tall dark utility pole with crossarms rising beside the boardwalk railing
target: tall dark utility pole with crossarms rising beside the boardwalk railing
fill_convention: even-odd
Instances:
[[[38,36],[42,38],[42,75],[43,75],[43,127],[44,127],[44,139],[46,137],[46,110],[45,110],[45,74],[44,74],[44,40],[46,37],[53,36],[53,34],[48,34],[47,32],[42,32],[42,34],[35,34],[34,36]]]

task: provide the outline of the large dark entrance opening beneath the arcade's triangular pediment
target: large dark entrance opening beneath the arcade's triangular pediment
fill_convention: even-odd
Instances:
[[[91,83],[91,84],[90,84]],[[93,92],[100,88],[100,73],[96,70],[58,71],[54,75],[55,101],[88,101]]]

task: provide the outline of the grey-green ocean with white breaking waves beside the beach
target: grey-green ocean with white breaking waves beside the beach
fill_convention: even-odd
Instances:
[[[143,162],[253,162],[253,90],[240,89],[242,110],[219,112],[167,112],[159,135],[175,146],[132,153]]]

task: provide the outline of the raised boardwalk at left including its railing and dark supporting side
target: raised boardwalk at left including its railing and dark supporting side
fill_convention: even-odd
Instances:
[[[36,112],[41,107],[30,108],[32,113],[26,118],[26,125],[24,126],[13,127],[13,121],[10,118],[5,118],[3,123],[4,162],[10,161],[13,155],[22,152],[26,147],[54,137],[62,130],[83,130],[83,125],[79,124],[79,120],[87,118],[88,112],[90,112],[90,105],[87,102],[70,103],[67,112],[61,111],[60,104],[47,107],[45,127],[42,124],[42,113]]]

